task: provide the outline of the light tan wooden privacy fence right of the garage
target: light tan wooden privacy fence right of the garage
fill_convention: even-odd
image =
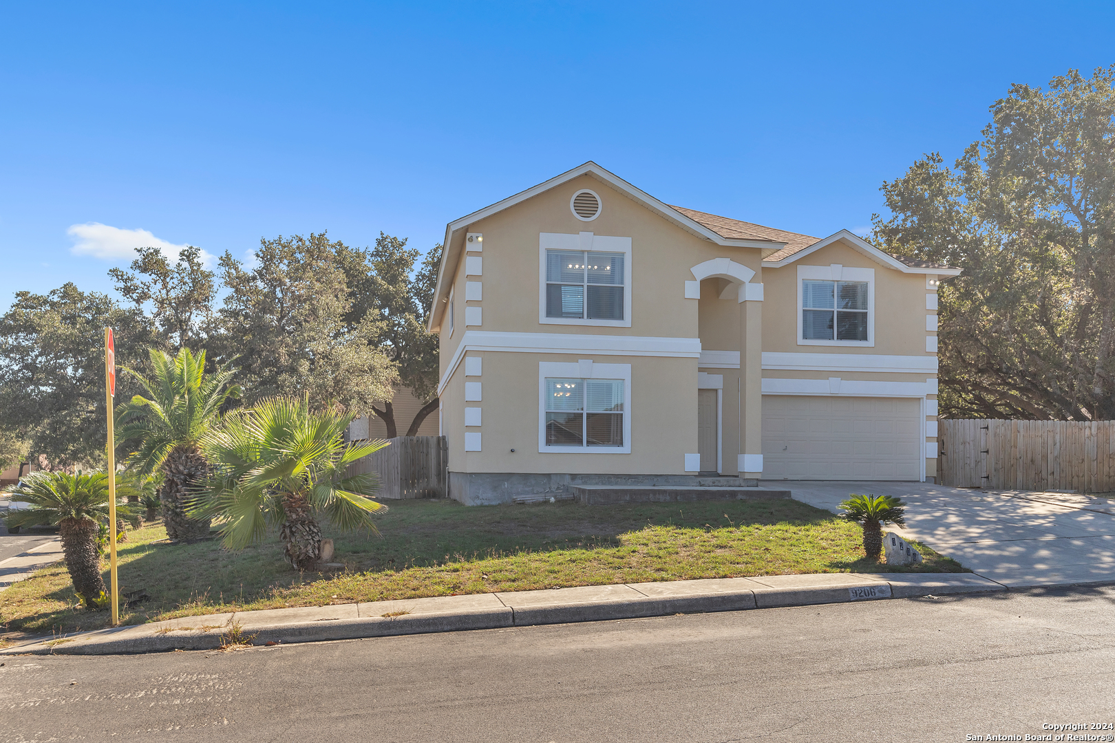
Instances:
[[[939,421],[941,485],[1115,490],[1115,421]]]

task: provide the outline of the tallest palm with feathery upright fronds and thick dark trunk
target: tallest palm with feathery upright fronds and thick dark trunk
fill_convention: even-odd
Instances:
[[[172,356],[152,349],[151,363],[155,369],[151,380],[125,369],[148,397],[137,394],[120,405],[117,438],[135,441],[138,447],[127,458],[130,469],[142,476],[162,470],[158,497],[166,536],[197,539],[209,534],[210,519],[187,516],[185,501],[209,476],[201,440],[220,418],[221,405],[230,397],[240,397],[240,387],[230,385],[227,365],[205,374],[205,351],[194,355],[182,349]]]

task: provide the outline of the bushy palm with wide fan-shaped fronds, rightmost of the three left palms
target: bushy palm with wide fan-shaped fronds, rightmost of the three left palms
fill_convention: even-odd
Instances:
[[[316,514],[341,529],[376,531],[371,514],[386,508],[370,499],[379,488],[374,475],[346,469],[387,442],[346,443],[351,421],[352,416],[310,412],[306,403],[282,398],[226,414],[205,437],[214,472],[192,512],[220,517],[230,549],[263,539],[268,524],[277,524],[291,567],[311,569],[321,554]]]

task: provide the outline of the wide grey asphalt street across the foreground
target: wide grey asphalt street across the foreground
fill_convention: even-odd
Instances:
[[[1044,723],[1115,723],[1113,608],[1115,587],[1040,589],[233,652],[16,656],[0,666],[0,740],[1038,734]]]

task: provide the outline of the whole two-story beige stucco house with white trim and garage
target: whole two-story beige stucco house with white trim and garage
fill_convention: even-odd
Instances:
[[[937,475],[957,268],[669,206],[594,163],[449,223],[449,496]]]

